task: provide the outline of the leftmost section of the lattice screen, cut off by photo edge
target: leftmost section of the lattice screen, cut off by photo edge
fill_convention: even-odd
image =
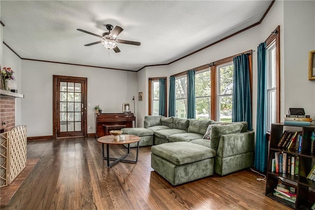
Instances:
[[[0,187],[8,185],[8,132],[0,134]]]

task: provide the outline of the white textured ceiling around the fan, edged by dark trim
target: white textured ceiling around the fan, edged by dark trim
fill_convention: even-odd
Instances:
[[[0,1],[3,41],[25,59],[123,70],[170,63],[257,23],[271,0],[232,1]],[[122,27],[115,53],[102,44],[84,44]]]

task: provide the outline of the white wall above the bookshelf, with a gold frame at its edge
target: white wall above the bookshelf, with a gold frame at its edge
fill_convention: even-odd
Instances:
[[[315,118],[315,81],[308,80],[315,42],[315,1],[284,1],[284,112],[303,107]]]

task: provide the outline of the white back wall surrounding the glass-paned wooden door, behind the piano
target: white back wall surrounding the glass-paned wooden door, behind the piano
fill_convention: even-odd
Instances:
[[[47,62],[22,61],[22,123],[28,136],[53,135],[53,75],[88,78],[88,133],[95,133],[94,106],[103,113],[122,113],[123,103],[130,104],[137,91],[136,73]]]

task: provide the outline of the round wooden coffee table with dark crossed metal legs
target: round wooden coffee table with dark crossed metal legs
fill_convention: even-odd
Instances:
[[[107,167],[111,167],[113,165],[115,165],[116,163],[118,163],[119,161],[122,162],[127,162],[127,163],[136,163],[138,162],[138,154],[139,154],[139,141],[140,141],[140,137],[138,136],[134,136],[134,135],[123,135],[125,136],[125,140],[120,140],[120,141],[116,141],[114,140],[114,136],[110,135],[110,136],[103,136],[97,139],[98,142],[102,143],[102,151],[103,151],[103,159],[107,160]],[[129,155],[130,152],[130,143],[134,143],[134,142],[138,142],[137,143],[137,155],[136,155],[136,160],[126,160],[124,158],[126,158]],[[105,155],[105,149],[104,149],[104,144],[106,144],[106,155]],[[109,157],[109,145],[110,144],[128,144],[128,150],[127,153],[120,157],[120,158],[111,158]],[[114,162],[110,163],[109,161],[113,160]]]

